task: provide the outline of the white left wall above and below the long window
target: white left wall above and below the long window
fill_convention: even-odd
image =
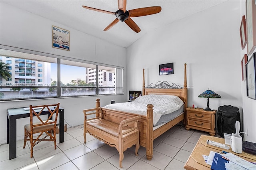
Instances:
[[[36,16],[1,2],[0,10],[1,45],[9,45],[64,57],[94,61],[126,68],[126,49],[94,38],[52,20]],[[70,31],[70,51],[52,47],[52,25]],[[124,77],[126,70],[124,70]],[[124,79],[125,85],[126,79]],[[126,86],[124,86],[126,88]],[[127,95],[108,95],[97,97],[74,97],[41,100],[0,101],[0,143],[6,142],[6,109],[28,107],[60,102],[65,108],[65,120],[71,125],[82,125],[83,109],[95,107],[95,99],[101,99],[101,105],[126,101]],[[24,125],[29,119],[17,121],[18,139],[24,138]]]

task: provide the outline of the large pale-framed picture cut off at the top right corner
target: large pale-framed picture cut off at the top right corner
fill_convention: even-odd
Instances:
[[[247,55],[251,55],[256,48],[256,3],[255,0],[246,0],[246,35]]]

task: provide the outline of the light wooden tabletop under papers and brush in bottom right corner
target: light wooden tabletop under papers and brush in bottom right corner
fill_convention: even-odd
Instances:
[[[218,148],[216,146],[211,146],[206,144],[207,139],[215,142],[223,143],[223,144],[225,143],[224,138],[201,135],[198,142],[196,143],[196,146],[191,152],[186,164],[184,165],[184,168],[186,170],[210,170],[211,166],[206,164],[202,155],[209,155],[211,150],[214,152],[222,152],[222,150],[224,150],[226,152],[231,152],[232,154],[240,156],[245,160],[256,162],[256,155],[248,154],[244,151],[242,151],[242,154],[238,154],[236,152],[233,152],[231,148],[227,150],[227,149]]]

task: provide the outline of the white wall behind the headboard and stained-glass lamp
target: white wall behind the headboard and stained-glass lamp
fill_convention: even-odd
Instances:
[[[242,104],[249,99],[240,90],[240,23],[240,1],[227,1],[147,34],[127,49],[127,90],[142,89],[143,68],[146,85],[168,81],[183,86],[187,63],[188,106],[206,107],[207,99],[198,95],[210,88],[222,97],[210,99],[210,108],[233,105],[240,116],[244,111],[251,131],[247,139],[256,142],[255,101]],[[159,75],[158,65],[172,62],[174,74]]]

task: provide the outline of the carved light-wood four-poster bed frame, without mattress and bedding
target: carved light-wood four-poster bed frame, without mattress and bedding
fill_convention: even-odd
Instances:
[[[144,69],[143,69],[143,89],[142,95],[149,94],[158,94],[158,95],[176,95],[182,99],[184,102],[184,112],[180,116],[176,117],[172,121],[160,126],[153,130],[153,105],[148,104],[147,106],[147,116],[141,115],[141,119],[138,121],[138,128],[140,131],[140,146],[146,148],[146,156],[148,160],[152,159],[153,156],[153,140],[158,136],[172,128],[174,125],[183,121],[183,124],[186,124],[186,107],[187,107],[187,80],[186,80],[186,63],[184,64],[184,87],[180,87],[175,83],[172,86],[166,86],[166,83],[162,82],[160,84],[156,84],[148,86],[145,88],[144,81]],[[96,99],[96,108],[100,107],[100,99]],[[124,119],[129,119],[132,117],[136,117],[138,115],[123,111],[117,111],[113,109],[107,109],[104,107],[100,107],[102,109],[102,117],[108,121],[112,121],[115,123],[120,123]]]

